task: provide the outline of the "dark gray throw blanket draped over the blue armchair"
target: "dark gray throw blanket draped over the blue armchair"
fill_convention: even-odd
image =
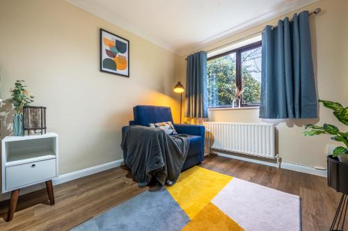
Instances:
[[[160,128],[130,126],[122,137],[125,164],[139,187],[155,178],[160,185],[173,185],[189,149],[188,135],[168,135]]]

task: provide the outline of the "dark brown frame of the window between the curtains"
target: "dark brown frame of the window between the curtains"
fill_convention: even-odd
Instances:
[[[250,51],[258,47],[262,47],[262,41],[253,42],[251,44],[241,46],[237,49],[219,53],[218,55],[214,55],[212,57],[207,58],[207,61],[214,60],[222,56],[230,55],[231,53],[236,53],[236,85],[238,89],[242,89],[242,71],[241,71],[242,70],[242,52]],[[242,99],[243,99],[243,94],[242,94]],[[260,107],[260,103],[241,103],[241,108],[251,108],[251,107]],[[219,107],[208,107],[208,108],[214,109],[214,108],[231,108],[231,107],[219,106]]]

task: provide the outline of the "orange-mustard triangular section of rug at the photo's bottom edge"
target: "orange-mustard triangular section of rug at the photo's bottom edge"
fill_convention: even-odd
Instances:
[[[221,210],[208,203],[200,210],[197,216],[190,221],[182,231],[244,231],[235,221],[230,219]]]

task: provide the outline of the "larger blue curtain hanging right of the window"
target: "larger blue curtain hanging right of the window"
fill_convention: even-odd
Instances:
[[[260,118],[317,118],[308,11],[262,33]]]

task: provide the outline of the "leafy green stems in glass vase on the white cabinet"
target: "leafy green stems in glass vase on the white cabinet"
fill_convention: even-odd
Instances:
[[[34,96],[24,88],[24,80],[17,80],[15,88],[10,90],[10,103],[15,107],[15,115],[13,117],[13,134],[16,136],[23,135],[23,107],[33,103]]]

